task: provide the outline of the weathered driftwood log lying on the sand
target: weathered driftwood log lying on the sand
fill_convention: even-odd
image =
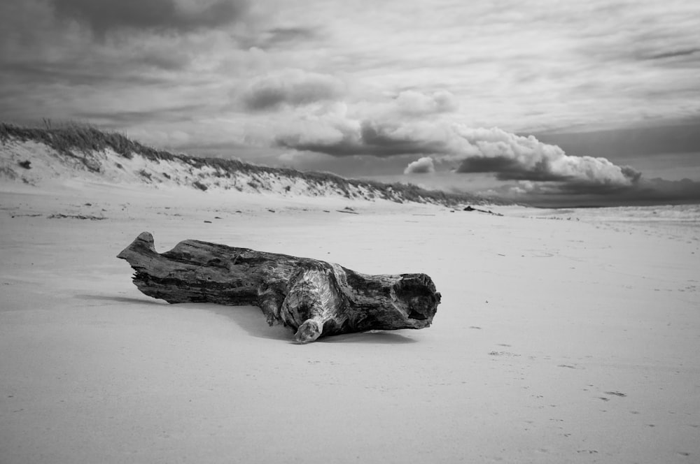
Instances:
[[[325,335],[425,328],[440,293],[425,274],[367,275],[337,264],[185,240],[159,254],[141,233],[117,256],[134,284],[168,303],[260,307],[267,323],[293,328],[299,343]]]

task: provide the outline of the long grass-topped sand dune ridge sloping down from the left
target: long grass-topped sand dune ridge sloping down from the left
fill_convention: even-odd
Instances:
[[[331,173],[272,168],[238,159],[200,158],[156,150],[85,124],[31,128],[0,123],[0,179],[39,185],[82,178],[113,184],[270,192],[282,196],[338,196],[454,206],[505,204],[469,194],[430,191],[413,184],[354,180]]]

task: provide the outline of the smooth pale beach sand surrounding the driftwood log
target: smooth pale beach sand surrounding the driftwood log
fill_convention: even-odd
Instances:
[[[80,182],[0,208],[3,464],[700,460],[697,224]],[[424,272],[442,304],[293,345],[258,308],[139,293],[115,256],[141,231]]]

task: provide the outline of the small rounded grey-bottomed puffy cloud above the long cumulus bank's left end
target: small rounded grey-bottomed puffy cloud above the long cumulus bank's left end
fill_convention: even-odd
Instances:
[[[256,78],[243,102],[249,110],[269,110],[283,104],[303,106],[338,99],[346,92],[342,80],[328,74],[285,69]]]

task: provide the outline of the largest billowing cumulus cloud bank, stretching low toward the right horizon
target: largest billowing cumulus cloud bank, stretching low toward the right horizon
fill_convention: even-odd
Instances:
[[[317,121],[321,126],[329,123],[335,129],[332,136],[287,134],[279,136],[277,144],[333,156],[430,155],[433,169],[436,163],[456,163],[456,173],[492,173],[498,180],[559,182],[571,191],[624,189],[640,178],[640,173],[629,166],[617,166],[605,158],[569,156],[556,145],[498,128],[472,129],[442,121],[363,120],[343,126],[337,121]],[[406,172],[415,172],[419,166],[427,166],[427,161],[407,167]]]

